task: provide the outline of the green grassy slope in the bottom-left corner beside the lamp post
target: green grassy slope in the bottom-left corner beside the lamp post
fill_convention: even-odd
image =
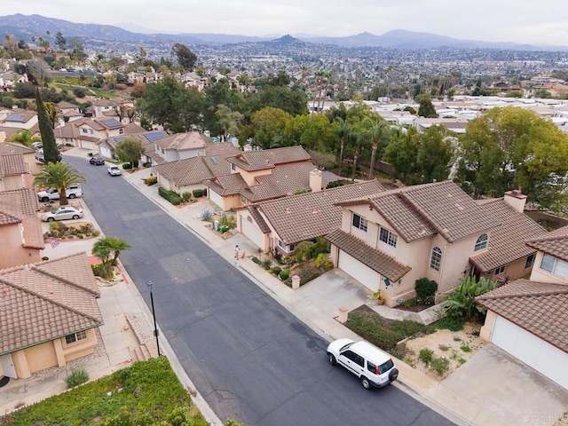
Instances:
[[[137,362],[102,379],[0,417],[0,424],[107,426],[208,423],[165,357]]]

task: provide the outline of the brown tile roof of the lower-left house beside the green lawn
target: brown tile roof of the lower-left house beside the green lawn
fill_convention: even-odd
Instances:
[[[85,253],[0,271],[0,354],[102,325]]]

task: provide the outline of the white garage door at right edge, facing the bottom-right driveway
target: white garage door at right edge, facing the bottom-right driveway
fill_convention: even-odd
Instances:
[[[491,341],[568,389],[568,353],[499,316],[495,319]]]

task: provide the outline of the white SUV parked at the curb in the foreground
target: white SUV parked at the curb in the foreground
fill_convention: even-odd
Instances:
[[[327,346],[327,357],[332,366],[340,364],[357,375],[365,389],[382,388],[398,378],[389,354],[368,342],[335,340]]]

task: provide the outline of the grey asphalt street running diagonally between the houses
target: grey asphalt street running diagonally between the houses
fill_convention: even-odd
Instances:
[[[106,166],[66,157],[103,232],[197,390],[222,421],[252,425],[453,424],[394,386],[365,390],[327,342]]]

